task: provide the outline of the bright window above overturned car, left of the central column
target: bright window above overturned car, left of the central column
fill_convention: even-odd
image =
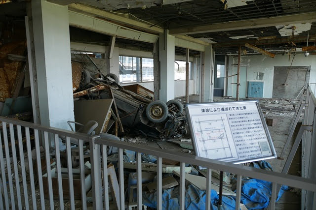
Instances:
[[[154,81],[154,60],[119,56],[119,82],[148,82]]]

